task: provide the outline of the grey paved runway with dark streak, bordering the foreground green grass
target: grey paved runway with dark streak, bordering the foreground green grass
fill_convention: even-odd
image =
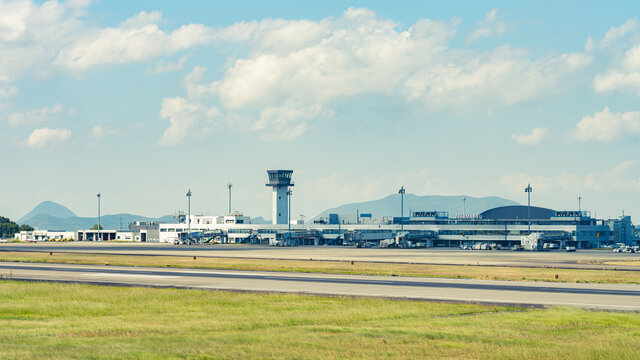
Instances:
[[[573,284],[0,262],[22,280],[562,305],[640,311],[640,285]]]

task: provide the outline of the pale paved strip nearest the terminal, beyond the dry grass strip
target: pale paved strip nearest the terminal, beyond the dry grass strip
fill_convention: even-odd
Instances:
[[[280,248],[256,245],[201,245],[174,246],[154,243],[30,243],[0,244],[2,251],[64,251],[79,253],[127,254],[145,256],[211,256],[257,259],[298,259],[338,261],[411,262],[422,264],[502,265],[527,267],[564,268],[622,268],[590,265],[589,262],[640,260],[640,254],[614,253],[613,251],[579,250],[575,253],[560,251],[462,251],[453,249],[356,249],[344,246],[299,246]],[[640,270],[640,266],[625,267]]]

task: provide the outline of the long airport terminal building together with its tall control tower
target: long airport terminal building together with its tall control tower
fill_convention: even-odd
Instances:
[[[546,242],[559,246],[594,248],[605,244],[632,245],[638,235],[629,216],[595,219],[588,211],[556,211],[536,206],[503,206],[472,218],[451,218],[437,210],[413,211],[409,217],[391,217],[366,223],[347,223],[338,214],[313,223],[289,220],[287,207],[293,171],[268,170],[273,188],[272,224],[251,224],[241,213],[227,216],[198,216],[191,220],[192,231],[224,232],[225,242],[282,245],[344,245],[367,243],[370,246],[390,239],[411,239],[410,246],[457,247],[479,243],[511,247],[521,244],[523,236],[544,234]],[[185,236],[186,221],[160,224],[160,242],[174,242]]]

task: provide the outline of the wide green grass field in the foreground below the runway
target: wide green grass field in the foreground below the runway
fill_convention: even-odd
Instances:
[[[640,314],[0,282],[0,359],[638,359]]]

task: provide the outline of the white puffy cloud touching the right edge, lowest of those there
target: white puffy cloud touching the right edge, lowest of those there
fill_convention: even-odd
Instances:
[[[573,130],[573,136],[581,141],[609,142],[640,134],[640,112],[611,112],[609,107],[594,115],[584,116]]]

